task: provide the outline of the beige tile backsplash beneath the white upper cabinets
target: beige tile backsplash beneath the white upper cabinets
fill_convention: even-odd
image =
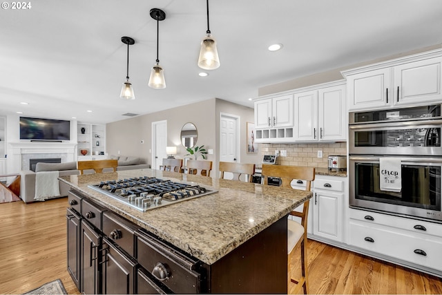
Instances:
[[[287,157],[280,154],[276,164],[291,166],[328,167],[329,155],[347,155],[347,142],[320,144],[260,144],[261,155],[274,155],[275,151],[287,151]],[[318,158],[318,151],[323,151],[323,158]]]

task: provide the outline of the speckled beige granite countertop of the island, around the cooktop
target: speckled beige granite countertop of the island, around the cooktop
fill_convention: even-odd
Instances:
[[[142,175],[198,182],[218,193],[142,212],[88,188],[101,181]],[[209,265],[312,196],[310,191],[153,169],[69,175],[59,180]]]

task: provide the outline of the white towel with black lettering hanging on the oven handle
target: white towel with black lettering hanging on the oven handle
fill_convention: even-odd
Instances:
[[[379,189],[381,191],[401,192],[401,158],[379,158]]]

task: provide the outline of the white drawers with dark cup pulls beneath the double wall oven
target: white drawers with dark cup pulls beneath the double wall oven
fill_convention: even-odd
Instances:
[[[442,270],[442,225],[350,209],[349,245]]]

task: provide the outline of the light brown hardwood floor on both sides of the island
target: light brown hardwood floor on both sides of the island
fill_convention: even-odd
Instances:
[[[57,278],[68,294],[79,294],[66,270],[66,207],[67,198],[0,204],[0,294]],[[441,278],[313,240],[308,251],[311,294],[442,294]]]

